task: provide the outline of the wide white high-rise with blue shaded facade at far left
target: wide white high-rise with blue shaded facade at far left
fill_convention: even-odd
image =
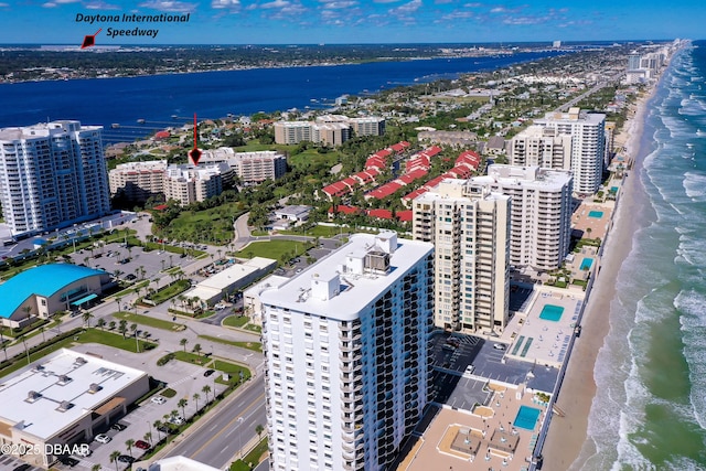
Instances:
[[[13,235],[110,212],[101,130],[72,120],[0,129],[0,202]]]

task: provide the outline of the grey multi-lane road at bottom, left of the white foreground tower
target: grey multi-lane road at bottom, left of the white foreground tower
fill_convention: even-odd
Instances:
[[[255,428],[266,424],[265,382],[263,375],[258,375],[217,415],[196,425],[197,428],[167,456],[181,454],[223,469],[231,464],[233,457],[239,457],[242,447],[257,437]]]

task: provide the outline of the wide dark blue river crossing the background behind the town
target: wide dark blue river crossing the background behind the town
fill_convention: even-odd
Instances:
[[[88,78],[0,85],[0,128],[53,119],[101,125],[106,142],[133,140],[193,119],[321,108],[343,94],[365,96],[385,88],[564,54],[556,51],[512,56],[371,62],[336,66],[252,68]],[[175,117],[175,118],[172,118]],[[145,120],[138,124],[138,120]],[[113,129],[111,125],[120,125]]]

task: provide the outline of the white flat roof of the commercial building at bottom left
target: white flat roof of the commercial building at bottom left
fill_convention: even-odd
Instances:
[[[62,349],[0,378],[0,417],[25,433],[46,440],[146,375],[139,370]],[[93,384],[98,390],[90,393]],[[31,396],[34,399],[30,399]],[[62,402],[71,407],[60,410]]]

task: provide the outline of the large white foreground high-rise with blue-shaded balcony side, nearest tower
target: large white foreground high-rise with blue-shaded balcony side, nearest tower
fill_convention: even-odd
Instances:
[[[263,291],[270,469],[387,469],[428,397],[434,247],[357,234]]]

